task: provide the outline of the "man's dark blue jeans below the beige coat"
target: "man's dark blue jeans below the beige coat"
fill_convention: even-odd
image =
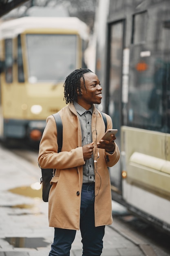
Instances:
[[[95,227],[94,216],[95,184],[83,184],[80,208],[80,231],[82,256],[100,256],[103,249],[105,226]],[[49,256],[69,256],[76,230],[55,228],[54,242]]]

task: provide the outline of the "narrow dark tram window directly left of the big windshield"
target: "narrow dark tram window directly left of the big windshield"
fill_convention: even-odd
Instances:
[[[21,46],[21,36],[18,36],[18,82],[24,83],[24,68],[22,61],[22,46]]]

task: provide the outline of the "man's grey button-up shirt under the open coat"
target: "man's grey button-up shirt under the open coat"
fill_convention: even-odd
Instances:
[[[79,117],[82,130],[82,146],[84,146],[92,142],[91,118],[93,113],[93,107],[90,110],[86,110],[77,102],[74,102],[74,106]],[[83,166],[83,183],[95,182],[93,163],[94,161],[92,155],[90,159],[86,160]]]

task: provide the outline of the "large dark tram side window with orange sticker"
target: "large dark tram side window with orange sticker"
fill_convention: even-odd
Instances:
[[[157,41],[148,34],[148,42],[161,52],[141,57],[149,43],[131,45],[128,126],[170,133],[169,40],[169,23],[161,21]]]

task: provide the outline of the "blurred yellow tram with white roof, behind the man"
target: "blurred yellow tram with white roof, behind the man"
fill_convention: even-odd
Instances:
[[[39,142],[46,117],[65,106],[64,80],[86,67],[88,26],[76,17],[0,24],[0,138]]]

